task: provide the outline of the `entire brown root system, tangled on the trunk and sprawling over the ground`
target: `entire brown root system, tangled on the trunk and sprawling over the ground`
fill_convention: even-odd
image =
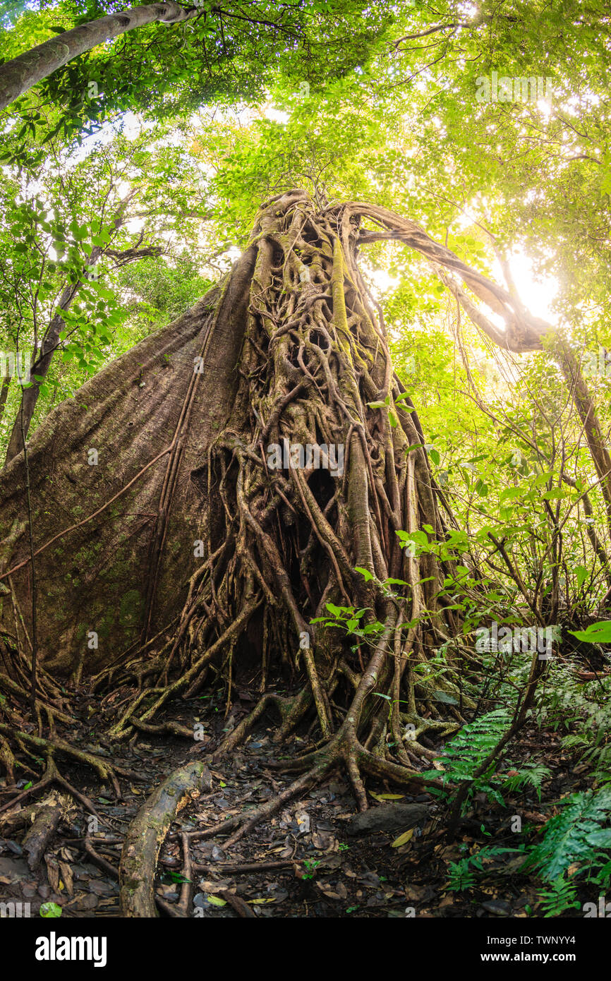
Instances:
[[[376,231],[362,228],[368,220]],[[368,806],[367,776],[419,790],[440,787],[419,770],[433,756],[422,740],[427,733],[449,735],[464,722],[463,712],[475,707],[462,684],[471,669],[457,645],[448,643],[460,633],[443,589],[455,565],[436,559],[429,548],[403,548],[397,536],[426,528],[430,542],[447,542],[452,517],[446,501],[443,511],[439,507],[415,407],[394,374],[382,312],[357,264],[362,243],[386,237],[443,264],[476,293],[495,299],[511,320],[510,298],[414,223],[355,202],[321,213],[304,192],[279,195],[262,208],[248,261],[240,261],[219,290],[214,322],[202,340],[205,354],[210,337],[235,326],[229,311],[236,305],[243,311],[243,345],[223,427],[206,458],[197,464],[191,459],[196,469],[182,472],[198,386],[191,373],[175,437],[153,461],[168,457],[151,533],[141,642],[95,678],[98,688],[113,691],[102,705],[112,712],[109,737],[125,740],[144,732],[192,739],[188,726],[153,720],[171,698],[192,697],[213,670],[226,684],[229,711],[236,666],[247,654],[251,664],[260,665],[253,680],[262,697],[212,760],[235,749],[271,709],[280,713],[276,739],[303,722],[313,747],[282,767],[297,775],[276,797],[205,831],[183,834],[187,872],[191,842],[229,835],[225,845],[231,847],[335,767],[347,773],[361,810]],[[201,565],[188,573],[182,609],[164,613],[172,630],[159,631],[156,598],[170,512],[179,498],[193,494],[204,515]],[[17,606],[15,630],[19,655],[8,664],[0,645],[6,667],[0,687],[23,700],[27,634]],[[429,657],[441,645],[442,677],[429,670]],[[291,686],[303,680],[296,696],[266,691],[277,670]],[[455,697],[459,708],[434,702],[437,688]],[[14,772],[15,743],[47,760],[35,787],[0,811],[55,781],[95,813],[58,774],[56,752],[93,767],[117,796],[116,774],[137,779],[60,740],[55,721],[69,720],[65,708],[57,685],[42,672],[31,722],[42,732],[46,715],[50,738],[0,724],[0,761],[7,772]],[[164,903],[153,893],[155,866],[189,790],[209,780],[205,764],[187,764],[146,800],[129,826],[120,865],[123,915],[155,916],[156,904],[169,915],[187,915],[190,885],[183,883],[178,906]],[[98,863],[105,861],[88,839],[85,849]],[[240,915],[250,915],[236,898],[228,902]]]

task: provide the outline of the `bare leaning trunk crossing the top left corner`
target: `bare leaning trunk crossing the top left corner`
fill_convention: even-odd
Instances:
[[[0,66],[0,109],[6,108],[36,82],[56,72],[73,58],[90,51],[98,44],[125,34],[127,30],[158,21],[177,24],[188,21],[199,13],[197,8],[184,10],[175,0],[166,0],[165,3],[132,7],[130,10],[66,30]]]

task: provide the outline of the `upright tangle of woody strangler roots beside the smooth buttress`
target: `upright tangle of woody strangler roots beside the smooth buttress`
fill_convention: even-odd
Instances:
[[[190,576],[174,633],[157,634],[164,638],[157,649],[147,640],[130,660],[112,666],[115,686],[138,679],[137,693],[110,729],[113,739],[153,731],[146,727],[160,709],[171,697],[198,691],[210,665],[225,678],[229,698],[238,654],[248,644],[260,654],[262,690],[272,650],[280,651],[287,670],[302,672],[307,685],[292,701],[264,692],[215,758],[235,747],[271,707],[280,711],[280,740],[312,706],[320,737],[329,743],[345,718],[346,681],[348,689],[358,689],[370,670],[368,639],[355,646],[349,633],[317,622],[329,602],[341,601],[361,608],[359,627],[374,631],[376,650],[376,629],[383,625],[376,688],[393,707],[388,720],[380,701],[359,707],[360,743],[387,756],[382,745],[387,729],[396,765],[411,768],[430,755],[418,741],[403,746],[398,707],[406,700],[420,718],[427,709],[427,679],[418,679],[425,692],[425,699],[422,692],[418,699],[409,666],[426,662],[425,649],[455,632],[453,614],[439,598],[442,576],[451,573],[452,563],[403,550],[395,535],[428,523],[433,538],[443,541],[447,526],[420,423],[393,374],[382,315],[356,261],[357,244],[364,240],[361,222],[370,213],[388,229],[391,216],[383,209],[351,204],[317,213],[301,191],[279,195],[264,205],[253,231],[251,278],[242,265],[223,285],[215,315],[219,329],[227,328],[231,289],[241,291],[246,329],[229,418],[208,459],[190,476],[190,489],[201,493],[213,516],[202,538],[206,553]],[[464,271],[424,232],[397,223],[394,232],[402,241]],[[189,379],[180,418],[188,418],[195,387],[196,380]],[[385,406],[395,399],[391,420]],[[301,447],[298,459],[291,445]],[[312,452],[303,449],[308,446]],[[271,447],[281,459],[271,455]],[[168,462],[164,528],[179,459],[177,450]],[[149,620],[164,536],[165,531],[153,549]],[[405,589],[393,594],[383,585],[388,579]],[[455,692],[452,682],[438,684]],[[468,697],[463,703],[469,704]],[[424,725],[419,729],[426,731]],[[355,752],[344,762],[364,800]]]

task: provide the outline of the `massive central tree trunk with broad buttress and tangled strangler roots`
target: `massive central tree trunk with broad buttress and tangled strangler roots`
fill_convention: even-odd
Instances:
[[[324,746],[293,789],[340,759],[361,807],[362,771],[423,782],[411,763],[431,750],[404,747],[401,727],[442,734],[462,719],[425,713],[434,690],[471,704],[451,675],[413,671],[459,625],[439,596],[452,563],[396,534],[442,542],[446,524],[358,269],[380,237],[425,255],[484,330],[454,277],[500,310],[507,346],[540,346],[540,322],[415,223],[359,202],[319,212],[290,191],[263,206],[223,284],[59,406],[28,449],[42,666],[113,691],[138,680],[113,738],[154,729],[210,664],[228,704],[236,676],[258,674],[262,700],[220,751],[268,707],[280,732],[312,712]],[[0,581],[27,625],[23,479],[20,454],[0,475]],[[0,615],[14,630],[7,604]],[[276,695],[279,672],[305,687]]]

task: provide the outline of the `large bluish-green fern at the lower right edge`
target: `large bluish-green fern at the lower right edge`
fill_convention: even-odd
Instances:
[[[564,876],[573,862],[580,862],[591,878],[608,864],[608,855],[600,850],[611,849],[611,829],[601,827],[611,813],[611,788],[572,794],[562,804],[561,812],[545,824],[542,841],[525,863],[549,883]]]

